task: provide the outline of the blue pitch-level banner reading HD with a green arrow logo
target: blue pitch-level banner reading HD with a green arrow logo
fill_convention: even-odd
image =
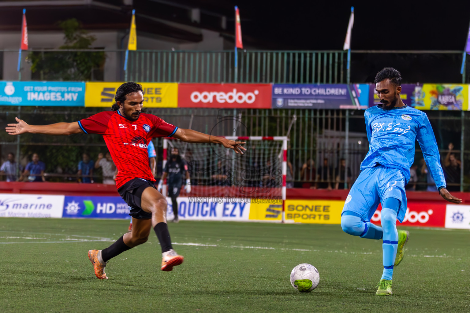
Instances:
[[[129,210],[120,197],[65,196],[62,217],[130,219]]]

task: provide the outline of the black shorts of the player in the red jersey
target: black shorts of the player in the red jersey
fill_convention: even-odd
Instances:
[[[143,178],[133,178],[118,189],[121,197],[131,207],[131,213],[129,215],[133,218],[142,220],[152,218],[151,213],[145,212],[141,208],[142,192],[148,187],[155,188],[154,182]]]

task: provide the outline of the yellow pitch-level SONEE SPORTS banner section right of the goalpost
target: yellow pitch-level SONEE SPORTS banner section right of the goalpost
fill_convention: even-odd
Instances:
[[[345,201],[286,200],[286,221],[311,224],[341,224],[341,211]],[[250,212],[251,213],[251,212]]]

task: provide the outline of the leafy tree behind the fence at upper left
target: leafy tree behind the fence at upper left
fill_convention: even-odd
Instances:
[[[59,49],[90,49],[96,38],[81,28],[77,19],[58,23],[64,32]],[[90,81],[103,79],[104,52],[31,52],[33,79],[59,81]]]

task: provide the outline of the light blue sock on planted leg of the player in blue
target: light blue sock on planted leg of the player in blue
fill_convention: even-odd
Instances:
[[[397,200],[398,202],[398,200]],[[384,207],[382,209],[382,229],[384,242],[382,244],[384,272],[382,279],[392,280],[393,264],[398,250],[397,212]]]

